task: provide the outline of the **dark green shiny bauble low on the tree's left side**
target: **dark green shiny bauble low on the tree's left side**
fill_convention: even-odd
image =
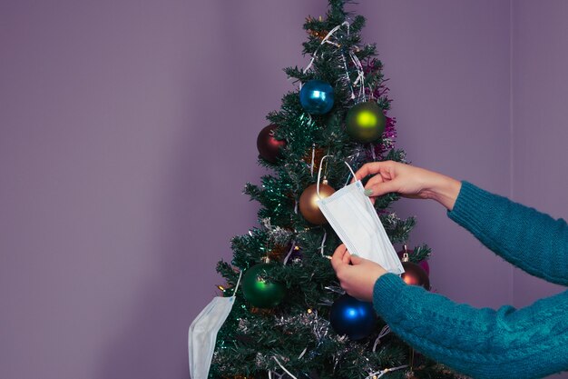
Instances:
[[[270,281],[273,264],[255,264],[242,275],[242,294],[257,308],[273,308],[284,299],[284,284]]]

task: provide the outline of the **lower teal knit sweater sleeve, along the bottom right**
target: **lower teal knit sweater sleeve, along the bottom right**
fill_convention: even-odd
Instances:
[[[523,379],[568,369],[568,292],[495,311],[456,304],[384,274],[373,304],[395,334],[462,374]]]

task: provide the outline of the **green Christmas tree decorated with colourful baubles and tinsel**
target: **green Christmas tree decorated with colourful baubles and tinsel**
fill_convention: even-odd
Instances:
[[[329,0],[325,17],[306,19],[309,64],[285,69],[298,90],[284,95],[258,136],[259,163],[273,174],[260,186],[246,185],[245,194],[260,203],[260,225],[234,237],[232,262],[217,266],[227,283],[223,295],[236,297],[217,336],[210,378],[456,377],[390,334],[371,304],[344,294],[329,263],[341,241],[318,210],[319,196],[349,183],[346,162],[354,170],[374,161],[406,163],[395,148],[396,120],[388,116],[376,46],[362,44],[365,18],[344,5]],[[397,199],[380,196],[374,206],[391,243],[405,244],[416,220],[392,212]],[[407,283],[429,286],[429,254],[426,244],[406,251]],[[345,316],[351,306],[364,309],[357,319]]]

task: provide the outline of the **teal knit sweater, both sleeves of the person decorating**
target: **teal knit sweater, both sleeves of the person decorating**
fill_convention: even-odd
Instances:
[[[467,182],[448,216],[524,271],[568,284],[568,226]],[[475,378],[537,378],[568,370],[568,291],[521,309],[456,304],[395,274],[378,278],[373,304],[417,351]]]

